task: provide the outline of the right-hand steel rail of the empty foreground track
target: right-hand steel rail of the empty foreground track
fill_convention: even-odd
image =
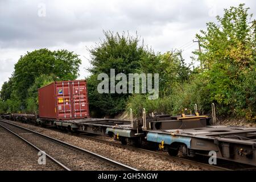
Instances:
[[[69,144],[69,143],[67,143],[67,142],[61,141],[61,140],[59,140],[59,139],[49,137],[49,136],[47,136],[47,135],[38,133],[38,132],[33,131],[33,130],[30,130],[30,129],[26,129],[25,127],[22,127],[22,126],[19,126],[19,125],[15,125],[14,123],[10,123],[10,122],[3,121],[3,119],[0,119],[0,121],[3,122],[3,123],[7,123],[7,124],[9,124],[9,125],[18,127],[18,128],[20,128],[20,129],[23,129],[23,130],[26,130],[26,131],[30,131],[31,133],[37,134],[37,135],[42,136],[42,137],[45,137],[45,138],[47,138],[47,139],[51,139],[51,140],[53,140],[53,141],[55,141],[55,142],[59,142],[59,143],[61,143],[61,144],[64,144],[65,146],[68,146],[68,147],[71,147],[71,148],[75,148],[76,150],[85,152],[86,154],[92,155],[92,156],[94,156],[94,157],[96,157],[96,158],[98,158],[98,159],[105,160],[106,162],[112,163],[112,164],[114,164],[115,166],[118,166],[118,167],[121,167],[121,168],[123,168],[123,169],[126,169],[127,171],[139,171],[139,170],[136,169],[136,168],[133,168],[133,167],[127,166],[127,165],[125,165],[125,164],[116,162],[116,161],[114,161],[114,160],[112,160],[112,159],[109,159],[109,158],[106,158],[106,157],[104,157],[104,156],[102,156],[102,155],[98,155],[98,154],[96,154],[96,153],[94,153],[94,152],[85,150],[84,148],[80,148],[80,147],[74,146],[74,145],[72,145],[72,144]]]

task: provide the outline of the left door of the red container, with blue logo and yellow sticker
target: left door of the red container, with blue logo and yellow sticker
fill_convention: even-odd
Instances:
[[[57,103],[57,118],[70,119],[72,118],[71,109],[71,85],[69,82],[56,83],[56,103]]]

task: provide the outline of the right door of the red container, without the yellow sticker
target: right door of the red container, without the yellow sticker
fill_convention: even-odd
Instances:
[[[89,105],[85,81],[72,82],[72,113],[73,118],[88,118]]]

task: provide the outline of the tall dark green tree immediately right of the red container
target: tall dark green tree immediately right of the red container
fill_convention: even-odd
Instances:
[[[129,94],[99,94],[97,85],[101,81],[97,80],[100,73],[106,73],[110,77],[110,69],[115,69],[115,74],[138,72],[140,62],[144,57],[150,55],[149,51],[139,44],[138,36],[113,34],[104,32],[105,39],[98,43],[96,47],[89,49],[92,55],[92,73],[88,80],[89,106],[92,115],[98,117],[102,115],[115,115],[125,110],[126,101]]]

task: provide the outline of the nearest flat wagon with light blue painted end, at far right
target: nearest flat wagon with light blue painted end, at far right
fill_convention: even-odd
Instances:
[[[209,155],[256,166],[256,127],[206,126],[184,130],[148,130],[147,140],[173,148],[178,143],[192,154]]]

